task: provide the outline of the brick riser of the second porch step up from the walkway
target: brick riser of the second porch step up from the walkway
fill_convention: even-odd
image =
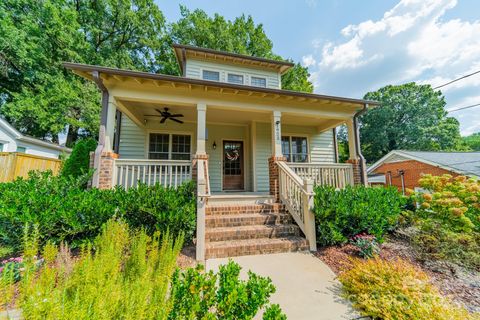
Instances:
[[[215,229],[211,229],[215,230]],[[246,240],[246,239],[261,239],[261,238],[281,238],[288,236],[300,236],[300,229],[296,226],[287,228],[275,228],[272,230],[253,230],[251,232],[240,230],[231,232],[209,232],[205,235],[207,242],[227,241],[227,240]]]

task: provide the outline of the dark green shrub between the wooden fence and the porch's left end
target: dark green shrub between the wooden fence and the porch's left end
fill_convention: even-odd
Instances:
[[[90,169],[90,152],[95,151],[97,142],[94,139],[78,140],[70,156],[63,162],[61,175],[79,177]]]

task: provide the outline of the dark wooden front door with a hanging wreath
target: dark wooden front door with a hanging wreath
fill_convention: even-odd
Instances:
[[[243,189],[243,142],[223,141],[223,190]]]

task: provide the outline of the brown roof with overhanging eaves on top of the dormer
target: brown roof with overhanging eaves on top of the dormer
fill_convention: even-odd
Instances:
[[[222,62],[249,65],[252,67],[264,69],[272,69],[280,72],[280,74],[285,73],[288,69],[295,65],[292,62],[283,60],[266,59],[245,54],[219,51],[183,44],[173,44],[172,47],[175,51],[175,56],[177,57],[177,61],[182,73],[185,72],[184,63],[187,58],[221,60]]]

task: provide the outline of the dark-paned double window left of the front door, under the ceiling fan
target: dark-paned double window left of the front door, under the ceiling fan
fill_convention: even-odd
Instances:
[[[190,136],[151,133],[148,158],[158,160],[190,160]]]

